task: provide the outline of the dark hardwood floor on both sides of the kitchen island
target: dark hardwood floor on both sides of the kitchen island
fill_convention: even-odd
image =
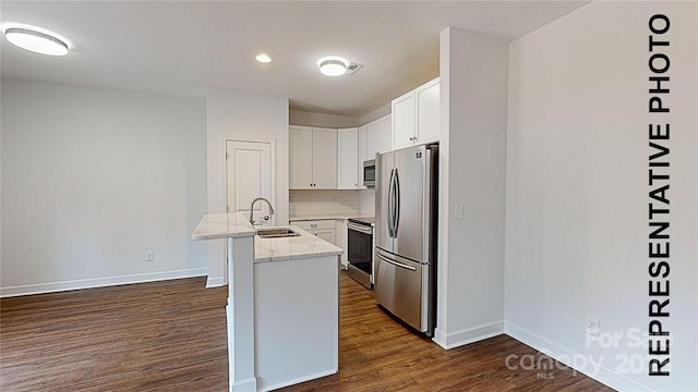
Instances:
[[[0,301],[0,391],[227,391],[226,287],[183,279]],[[339,372],[282,391],[612,391],[501,335],[442,350],[341,277]],[[543,357],[541,364],[552,364]],[[509,360],[509,365],[519,364]]]

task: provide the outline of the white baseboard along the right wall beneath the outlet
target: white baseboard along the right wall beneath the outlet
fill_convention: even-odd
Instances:
[[[650,387],[637,382],[624,375],[619,375],[613,369],[603,366],[603,364],[599,364],[593,362],[592,359],[586,357],[583,354],[573,353],[569,350],[553,343],[549,340],[545,340],[542,336],[539,336],[532,332],[527,331],[526,329],[513,323],[506,322],[504,331],[507,335],[518,340],[519,342],[538,350],[545,355],[559,360],[565,364],[567,367],[583,373],[587,377],[590,377],[607,387],[611,387],[617,391],[653,391]],[[571,360],[571,358],[581,358],[585,357],[585,360]],[[586,366],[585,368],[580,368],[579,366],[575,367],[575,364],[582,363]]]

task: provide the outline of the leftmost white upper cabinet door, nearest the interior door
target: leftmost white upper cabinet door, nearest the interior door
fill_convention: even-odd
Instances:
[[[313,130],[289,128],[289,187],[309,189],[313,183]]]

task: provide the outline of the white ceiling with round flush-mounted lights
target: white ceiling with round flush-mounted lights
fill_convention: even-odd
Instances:
[[[65,37],[61,58],[0,47],[2,76],[205,96],[287,97],[294,110],[361,117],[438,75],[447,26],[514,40],[587,1],[5,1],[2,28]],[[266,52],[274,61],[257,63]],[[327,77],[324,56],[364,68]]]

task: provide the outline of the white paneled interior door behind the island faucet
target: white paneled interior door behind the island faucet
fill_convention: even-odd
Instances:
[[[250,213],[250,204],[264,197],[275,205],[274,144],[270,142],[227,140],[226,143],[226,197],[228,212]],[[264,217],[270,217],[265,220]],[[256,224],[275,225],[264,201],[254,204]]]

